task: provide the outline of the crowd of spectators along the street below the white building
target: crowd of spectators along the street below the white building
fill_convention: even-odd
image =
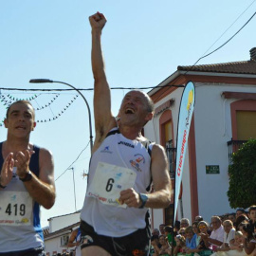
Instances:
[[[191,224],[192,223],[192,224]],[[183,218],[172,226],[152,230],[151,256],[256,256],[256,205],[248,212]]]

